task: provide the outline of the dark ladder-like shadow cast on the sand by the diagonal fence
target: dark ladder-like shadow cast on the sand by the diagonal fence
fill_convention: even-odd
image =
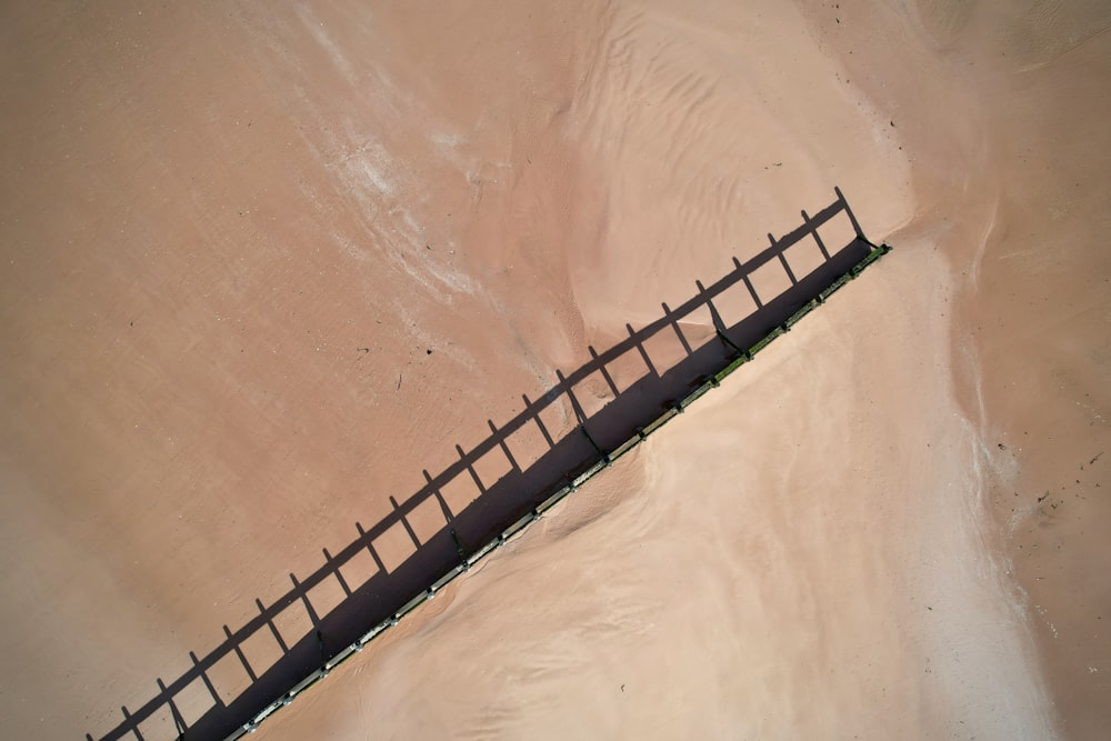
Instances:
[[[322,675],[341,652],[359,650],[372,627],[396,623],[414,600],[434,597],[437,580],[466,570],[480,547],[608,462],[662,410],[875,249],[840,189],[835,193],[814,216],[803,211],[794,231],[769,234],[769,246],[752,259],[734,259],[717,282],[697,282],[681,306],[662,304],[660,319],[641,329],[627,324],[629,337],[603,352],[590,348],[590,360],[557,372],[559,383],[542,397],[523,397],[524,410],[513,419],[488,420],[486,440],[472,450],[457,445],[457,461],[434,475],[424,471],[426,484],[403,501],[391,498],[393,511],[379,522],[357,522],[357,538],[334,553],[326,549],[313,573],[290,574],[289,591],[273,604],[256,600],[257,617],[237,630],[224,625],[222,643],[204,657],[190,653],[188,671],[168,683],[156,680],[158,693],[141,708],[121,708],[122,721],[100,738],[213,739],[249,730],[308,675]],[[561,415],[573,415],[575,424],[553,423]],[[327,601],[330,609],[313,595],[318,588],[340,594]],[[220,677],[229,663],[246,672],[246,687],[218,687],[227,684]]]

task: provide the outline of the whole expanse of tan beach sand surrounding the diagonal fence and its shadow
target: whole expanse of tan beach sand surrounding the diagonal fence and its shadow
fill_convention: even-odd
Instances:
[[[839,184],[895,253],[261,733],[1098,738],[1104,3],[531,4],[0,11],[3,735]]]

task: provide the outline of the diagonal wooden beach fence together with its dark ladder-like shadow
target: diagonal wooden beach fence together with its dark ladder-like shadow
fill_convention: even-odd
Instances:
[[[391,498],[393,511],[373,527],[363,529],[356,523],[359,533],[356,540],[336,553],[326,549],[324,565],[303,579],[290,574],[292,588],[273,604],[267,607],[256,600],[258,615],[236,631],[226,625],[226,640],[204,657],[191,652],[191,669],[169,683],[158,679],[158,694],[134,711],[121,708],[123,721],[101,738],[121,739],[131,734],[142,740],[147,739],[144,733],[169,730],[183,739],[234,740],[252,732],[710,389],[720,385],[725,377],[750,362],[891,249],[868,241],[841,190],[834,191],[837,200],[813,217],[802,211],[803,223],[794,231],[778,240],[769,234],[769,247],[743,263],[734,258],[734,269],[713,284],[704,287],[697,281],[697,293],[674,309],[662,304],[660,319],[640,330],[627,324],[629,337],[604,352],[589,348],[590,361],[567,375],[557,371],[559,383],[537,400],[522,397],[524,410],[512,420],[500,427],[488,420],[490,437],[470,451],[457,445],[459,460],[434,477],[424,471],[426,485],[403,502]],[[837,233],[831,227],[842,214],[851,229],[843,233],[852,237],[830,251],[828,233],[823,238],[822,232]],[[810,249],[809,260],[799,260],[797,251],[807,249]],[[774,271],[777,263],[789,288],[778,293],[758,290],[754,279],[760,271]],[[729,323],[714,302],[738,294],[751,299],[755,309]],[[703,309],[709,310],[718,341],[694,348],[681,324]],[[655,351],[649,343],[669,339],[681,346],[683,357],[671,368],[663,368],[659,358],[653,361]],[[642,375],[619,389],[611,370],[629,358],[644,367]],[[601,409],[588,413],[577,389],[595,373],[604,379],[612,398]],[[546,410],[557,404],[569,407],[578,422],[558,440],[542,418]],[[520,463],[520,455],[512,450],[518,447],[514,435],[524,430],[539,432],[548,447],[527,465]],[[484,482],[478,464],[491,454],[500,457],[509,471],[493,482]],[[449,484],[473,485],[473,500],[449,504],[444,494]],[[430,501],[439,505],[444,523],[421,541],[409,519]],[[398,527],[411,539],[412,551],[390,568],[379,552],[378,541]],[[481,545],[468,548],[466,543]],[[377,571],[361,585],[348,583],[341,568],[367,554]],[[331,580],[346,597],[331,611],[319,614],[309,593]],[[283,635],[279,619],[299,610],[308,614],[314,630],[302,635]],[[264,671],[256,671],[243,650],[246,642],[257,634],[270,637],[281,651],[281,657]],[[211,674],[230,655],[242,664],[250,683],[226,701]],[[197,688],[198,680],[202,690]],[[187,713],[196,718],[190,722]],[[92,734],[87,738],[93,739]]]

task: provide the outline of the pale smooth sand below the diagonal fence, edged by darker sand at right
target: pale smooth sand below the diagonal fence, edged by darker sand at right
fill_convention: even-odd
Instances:
[[[1045,738],[969,501],[974,433],[895,349],[943,347],[915,317],[944,283],[899,287],[944,268],[894,262],[262,738]]]

